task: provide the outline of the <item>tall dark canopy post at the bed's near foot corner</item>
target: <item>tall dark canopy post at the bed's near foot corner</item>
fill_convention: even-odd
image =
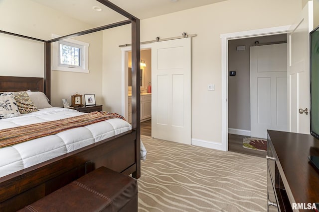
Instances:
[[[140,109],[140,93],[141,93],[141,71],[140,71],[140,19],[132,20],[132,129],[136,130],[136,164],[137,170],[133,173],[133,177],[141,176],[141,160],[140,160],[140,140],[141,140],[141,109]]]

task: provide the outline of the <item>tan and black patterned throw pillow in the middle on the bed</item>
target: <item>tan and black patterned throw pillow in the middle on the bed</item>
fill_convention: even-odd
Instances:
[[[16,102],[16,105],[18,106],[18,110],[20,113],[23,114],[38,111],[26,91],[18,91],[12,93],[14,94],[14,100]]]

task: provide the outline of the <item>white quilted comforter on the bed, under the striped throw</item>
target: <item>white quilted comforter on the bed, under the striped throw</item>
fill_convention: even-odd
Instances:
[[[79,116],[76,110],[45,108],[19,117],[1,119],[0,129]],[[86,127],[0,148],[0,177],[124,133],[132,126],[122,119],[109,119]]]

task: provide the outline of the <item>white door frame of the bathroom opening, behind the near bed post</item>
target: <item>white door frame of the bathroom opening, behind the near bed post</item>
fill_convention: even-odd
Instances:
[[[152,43],[141,44],[141,50],[152,49]],[[129,94],[128,94],[128,52],[132,51],[132,46],[126,46],[121,48],[122,51],[122,80],[121,80],[121,99],[122,99],[122,110],[121,114],[128,120],[129,116]]]

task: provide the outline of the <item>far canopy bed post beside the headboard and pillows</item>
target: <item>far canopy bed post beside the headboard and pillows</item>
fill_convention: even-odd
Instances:
[[[51,101],[51,42],[44,43],[44,93]]]

